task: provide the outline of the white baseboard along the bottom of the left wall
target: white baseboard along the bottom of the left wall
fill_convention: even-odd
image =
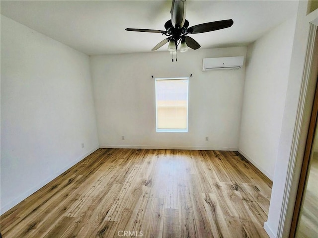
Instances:
[[[39,182],[38,184],[36,184],[35,186],[33,186],[32,188],[30,188],[29,190],[27,190],[26,192],[23,192],[22,194],[20,194],[18,197],[16,197],[15,199],[13,199],[11,202],[5,204],[4,206],[2,206],[0,208],[0,215],[2,215],[3,213],[7,212],[8,210],[10,210],[12,207],[14,207],[15,205],[17,205],[19,202],[23,201],[25,198],[27,198],[28,196],[30,196],[31,194],[33,194],[34,192],[36,192],[37,190],[39,190],[41,187],[45,186],[46,184],[48,184],[50,181],[52,181],[53,179],[56,179],[58,176],[60,176],[61,174],[63,174],[65,171],[67,171],[68,169],[70,169],[72,166],[76,165],[77,163],[79,163],[79,161],[81,161],[82,159],[84,159],[85,157],[87,157],[88,155],[90,155],[91,153],[93,153],[95,150],[97,150],[99,148],[95,147],[92,150],[88,151],[87,153],[85,153],[84,155],[80,156],[78,159],[72,161],[70,164],[68,164],[67,166],[65,166],[63,169],[57,171],[54,175],[48,177],[47,179]],[[2,205],[2,204],[1,204]]]

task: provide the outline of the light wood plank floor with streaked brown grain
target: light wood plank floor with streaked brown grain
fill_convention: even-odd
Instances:
[[[3,214],[1,233],[268,238],[271,186],[238,152],[98,149]]]

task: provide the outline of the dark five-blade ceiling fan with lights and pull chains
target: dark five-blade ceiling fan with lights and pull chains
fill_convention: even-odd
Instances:
[[[159,42],[152,51],[158,50],[161,46],[169,42],[168,51],[171,54],[176,54],[178,45],[180,46],[180,52],[186,52],[188,47],[193,50],[199,49],[201,46],[188,34],[204,33],[209,31],[220,30],[231,27],[233,20],[222,20],[207,22],[195,26],[189,26],[189,22],[185,19],[186,12],[186,0],[172,0],[171,6],[171,20],[168,20],[164,24],[165,31],[163,30],[150,30],[150,29],[138,29],[138,28],[126,28],[126,31],[140,31],[140,32],[151,32],[161,33],[162,35],[168,36],[168,38]],[[172,59],[173,61],[173,59]]]

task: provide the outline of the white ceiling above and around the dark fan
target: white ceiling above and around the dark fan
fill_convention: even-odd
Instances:
[[[172,1],[1,1],[1,14],[87,55],[151,52],[166,38],[160,33],[128,32],[125,28],[164,30]],[[190,26],[233,19],[219,31],[190,35],[201,48],[246,46],[297,12],[295,0],[187,0]],[[159,51],[166,51],[163,46]]]

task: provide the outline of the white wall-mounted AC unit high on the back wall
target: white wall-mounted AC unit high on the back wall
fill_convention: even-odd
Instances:
[[[243,66],[244,57],[205,58],[202,62],[202,71],[239,69]]]

